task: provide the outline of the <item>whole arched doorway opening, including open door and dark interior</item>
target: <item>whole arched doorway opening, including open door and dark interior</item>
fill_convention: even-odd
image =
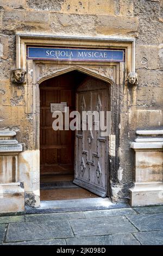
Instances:
[[[54,131],[51,111],[51,104],[66,103],[82,117],[82,111],[109,111],[109,99],[108,83],[78,71],[40,84],[41,200],[109,196],[108,137],[95,129],[66,130],[65,123],[64,130]]]

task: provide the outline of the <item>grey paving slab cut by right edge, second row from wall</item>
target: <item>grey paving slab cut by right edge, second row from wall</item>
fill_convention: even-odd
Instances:
[[[127,218],[140,231],[163,230],[163,214],[142,214]]]

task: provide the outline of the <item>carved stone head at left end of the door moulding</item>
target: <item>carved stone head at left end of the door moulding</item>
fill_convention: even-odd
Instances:
[[[12,69],[11,82],[17,85],[26,83],[26,70],[24,69]]]

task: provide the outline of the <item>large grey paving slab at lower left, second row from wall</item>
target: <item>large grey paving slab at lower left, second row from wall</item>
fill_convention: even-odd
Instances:
[[[10,223],[6,241],[28,241],[73,237],[68,221]]]

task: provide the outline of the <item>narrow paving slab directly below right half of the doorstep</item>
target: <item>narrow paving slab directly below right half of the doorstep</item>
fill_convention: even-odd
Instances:
[[[86,218],[106,217],[106,216],[123,216],[123,215],[135,215],[135,214],[136,214],[136,212],[131,208],[85,211],[84,212],[84,215]]]

